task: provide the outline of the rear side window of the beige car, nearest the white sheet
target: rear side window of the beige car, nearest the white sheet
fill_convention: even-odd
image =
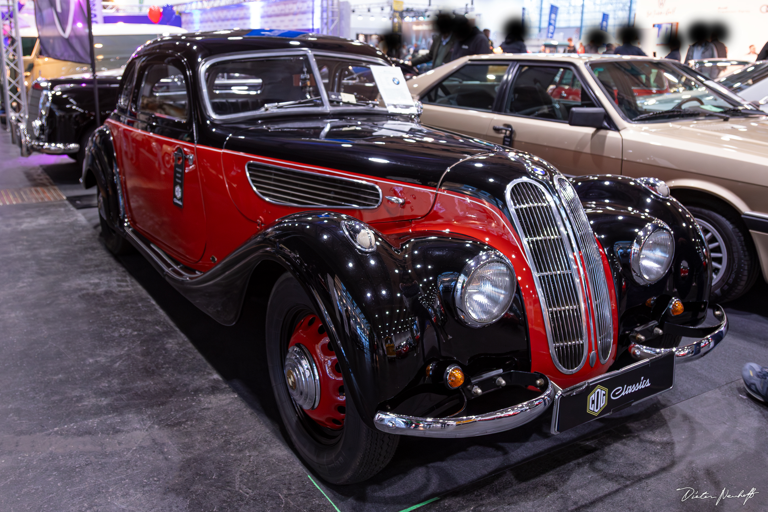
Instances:
[[[429,91],[422,101],[445,107],[491,111],[508,64],[467,64]]]

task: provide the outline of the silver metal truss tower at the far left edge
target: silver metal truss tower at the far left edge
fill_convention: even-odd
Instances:
[[[2,20],[2,92],[5,107],[5,127],[12,131],[14,123],[27,121],[27,88],[24,84],[22,38],[18,35],[18,2],[0,0]]]

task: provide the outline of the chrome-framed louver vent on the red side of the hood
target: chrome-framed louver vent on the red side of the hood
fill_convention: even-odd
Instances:
[[[376,208],[382,191],[373,183],[248,162],[248,179],[264,200],[291,206]]]

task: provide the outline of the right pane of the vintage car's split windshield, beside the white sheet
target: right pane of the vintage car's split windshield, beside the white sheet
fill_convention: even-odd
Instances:
[[[322,56],[316,61],[331,107],[385,106],[371,71],[375,64]]]

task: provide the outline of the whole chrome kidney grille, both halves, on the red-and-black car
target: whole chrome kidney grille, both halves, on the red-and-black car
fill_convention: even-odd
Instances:
[[[555,183],[557,196],[538,181],[515,180],[507,201],[531,265],[554,365],[570,374],[584,366],[590,341],[601,362],[611,355],[613,317],[581,202],[568,180],[558,177]]]

